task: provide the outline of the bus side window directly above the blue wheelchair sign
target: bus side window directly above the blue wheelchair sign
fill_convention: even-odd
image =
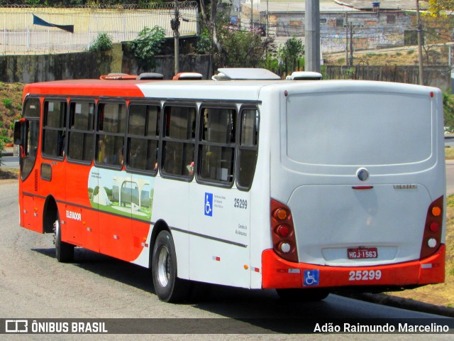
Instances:
[[[197,179],[233,183],[236,109],[203,108]]]

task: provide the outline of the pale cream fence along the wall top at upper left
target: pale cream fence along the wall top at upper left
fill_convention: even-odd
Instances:
[[[178,11],[180,37],[196,35],[198,33],[196,1],[179,3]],[[174,17],[173,2],[152,4],[141,9],[133,6],[122,9],[0,8],[0,54],[78,52],[88,50],[101,33],[108,34],[113,43],[119,43],[137,38],[145,26],[149,28],[160,26],[164,28],[166,37],[172,37],[170,21]],[[37,21],[41,24],[36,24]],[[43,26],[43,21],[50,26]],[[73,33],[58,26],[72,26]]]

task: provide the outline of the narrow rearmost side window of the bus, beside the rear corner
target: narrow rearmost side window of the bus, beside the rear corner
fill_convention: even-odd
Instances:
[[[253,183],[258,153],[259,113],[257,109],[241,112],[241,137],[238,150],[238,188],[249,190]]]

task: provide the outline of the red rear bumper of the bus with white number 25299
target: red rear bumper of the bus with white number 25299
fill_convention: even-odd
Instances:
[[[319,266],[286,261],[262,252],[262,288],[414,286],[445,281],[445,244],[421,261],[380,266]]]

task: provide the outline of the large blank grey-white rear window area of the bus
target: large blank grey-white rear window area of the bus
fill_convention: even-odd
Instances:
[[[287,99],[287,156],[299,163],[367,166],[431,156],[431,99],[325,93]]]

